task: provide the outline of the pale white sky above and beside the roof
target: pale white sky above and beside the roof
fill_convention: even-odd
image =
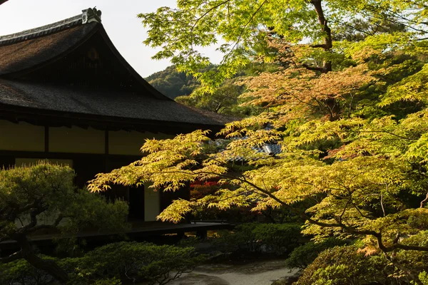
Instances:
[[[142,43],[147,33],[136,15],[175,6],[175,0],[9,0],[0,5],[0,36],[51,24],[94,6],[103,12],[101,19],[111,41],[141,76],[170,66],[168,60],[151,59],[156,50]],[[203,52],[218,62],[220,55],[214,50]]]

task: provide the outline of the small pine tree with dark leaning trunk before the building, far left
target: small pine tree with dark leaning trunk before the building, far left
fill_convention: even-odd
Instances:
[[[73,177],[71,168],[45,162],[0,170],[0,242],[14,240],[21,247],[0,262],[23,258],[58,281],[66,282],[66,273],[53,260],[36,256],[29,244],[29,234],[51,231],[68,239],[89,226],[114,232],[128,228],[125,202],[110,203],[101,195],[77,190]]]

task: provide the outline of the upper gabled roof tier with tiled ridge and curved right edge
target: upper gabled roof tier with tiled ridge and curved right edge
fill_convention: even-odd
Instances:
[[[103,43],[121,62],[121,66],[140,83],[141,88],[146,91],[146,95],[161,100],[172,100],[153,88],[132,68],[113,45],[103,25],[97,21],[83,23],[82,16],[85,15],[85,11],[83,10],[83,14],[53,24],[0,36],[0,54],[2,55],[0,77],[19,78],[39,68],[49,66],[98,33],[103,38]]]

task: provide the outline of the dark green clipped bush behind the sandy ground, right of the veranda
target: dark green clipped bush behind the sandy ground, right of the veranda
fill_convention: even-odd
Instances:
[[[220,231],[213,244],[220,252],[275,252],[283,254],[297,246],[300,234],[298,224],[240,224],[233,232]]]

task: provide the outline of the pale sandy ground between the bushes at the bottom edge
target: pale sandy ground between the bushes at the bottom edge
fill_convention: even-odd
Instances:
[[[245,265],[210,264],[183,274],[170,285],[271,285],[273,281],[292,276],[284,261],[260,261]]]

